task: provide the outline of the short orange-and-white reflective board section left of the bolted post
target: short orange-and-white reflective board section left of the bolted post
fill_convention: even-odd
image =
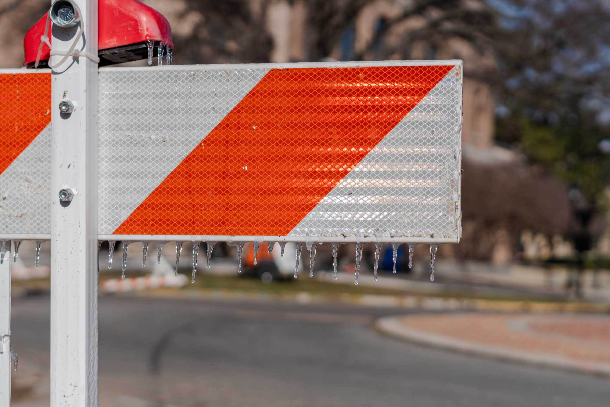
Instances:
[[[0,70],[0,235],[51,233],[51,71]]]

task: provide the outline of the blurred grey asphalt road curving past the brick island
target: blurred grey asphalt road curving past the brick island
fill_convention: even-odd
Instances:
[[[13,406],[48,405],[48,296],[13,301]],[[418,347],[396,310],[99,300],[100,406],[604,406],[609,381]]]

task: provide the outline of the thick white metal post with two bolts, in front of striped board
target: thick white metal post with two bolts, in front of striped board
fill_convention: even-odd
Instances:
[[[96,56],[98,2],[73,2],[85,24],[76,49]],[[52,51],[69,50],[79,28],[54,25]],[[61,113],[62,101],[73,112]],[[81,54],[54,68],[51,106],[51,406],[90,407],[98,405],[98,65]],[[71,200],[60,202],[62,189]]]

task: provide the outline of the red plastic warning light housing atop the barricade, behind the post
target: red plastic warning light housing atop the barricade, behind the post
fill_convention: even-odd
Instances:
[[[27,31],[23,40],[26,56],[23,65],[28,68],[34,68],[40,37],[45,34],[47,14]],[[169,48],[174,47],[170,23],[161,13],[136,0],[99,0],[99,66],[148,58],[148,41],[154,41],[155,48],[160,43],[165,43]],[[47,45],[43,45],[39,68],[48,67],[50,51]]]

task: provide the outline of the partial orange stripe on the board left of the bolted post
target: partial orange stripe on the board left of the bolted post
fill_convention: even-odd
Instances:
[[[0,174],[51,122],[51,73],[0,74]]]

